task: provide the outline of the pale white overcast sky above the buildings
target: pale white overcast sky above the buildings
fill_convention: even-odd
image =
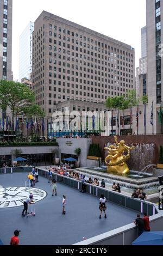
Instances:
[[[13,0],[14,80],[18,80],[20,35],[43,10],[131,45],[135,48],[135,65],[139,65],[141,28],[146,26],[146,0]]]

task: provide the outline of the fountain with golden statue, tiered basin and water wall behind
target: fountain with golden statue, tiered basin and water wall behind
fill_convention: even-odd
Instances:
[[[158,177],[153,176],[154,143],[129,147],[124,141],[118,143],[115,137],[115,144],[108,143],[105,149],[105,164],[108,167],[98,160],[96,167],[78,168],[79,172],[92,178],[104,179],[108,184],[115,181],[120,186],[131,189],[159,186]]]

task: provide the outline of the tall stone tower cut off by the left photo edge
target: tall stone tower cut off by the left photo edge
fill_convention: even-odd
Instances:
[[[0,80],[12,80],[12,0],[0,0]]]

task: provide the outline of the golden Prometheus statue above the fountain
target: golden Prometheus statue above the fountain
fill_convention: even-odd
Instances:
[[[108,156],[105,158],[105,163],[108,166],[109,173],[118,173],[118,174],[126,174],[129,173],[129,168],[127,166],[127,159],[130,157],[131,148],[124,144],[124,141],[117,142],[117,137],[114,136],[116,145],[110,145],[109,148],[104,148],[108,150]],[[127,153],[127,154],[124,154]]]

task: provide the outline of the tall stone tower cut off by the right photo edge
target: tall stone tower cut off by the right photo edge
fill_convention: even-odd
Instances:
[[[159,109],[163,95],[162,47],[163,0],[147,0],[147,95],[148,105],[154,103],[154,133],[161,131]]]

